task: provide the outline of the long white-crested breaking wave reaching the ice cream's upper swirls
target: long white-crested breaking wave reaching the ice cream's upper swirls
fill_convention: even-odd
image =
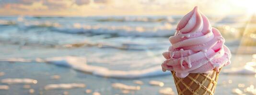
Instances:
[[[175,28],[171,23],[165,22],[155,26],[132,26],[132,25],[87,25],[82,23],[60,23],[56,21],[38,20],[0,20],[0,26],[17,26],[18,29],[28,31],[34,28],[47,28],[48,30],[70,34],[99,35],[108,34],[116,36],[132,37],[169,37],[175,34]]]

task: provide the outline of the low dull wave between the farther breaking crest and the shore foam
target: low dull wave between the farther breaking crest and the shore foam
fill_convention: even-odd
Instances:
[[[151,49],[162,49],[161,47],[155,47],[156,44],[132,44],[132,43],[120,43],[118,45],[111,45],[103,42],[73,42],[70,44],[61,44],[55,41],[42,41],[42,40],[28,40],[30,38],[15,38],[15,39],[1,39],[2,44],[13,44],[23,46],[37,46],[37,47],[52,47],[52,48],[79,48],[79,47],[98,47],[98,48],[114,48],[120,50],[151,50]],[[160,44],[158,44],[160,45]],[[11,58],[10,58],[11,59]],[[22,59],[21,59],[22,60]]]

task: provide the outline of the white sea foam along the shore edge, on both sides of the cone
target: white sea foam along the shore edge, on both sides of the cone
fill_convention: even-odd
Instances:
[[[163,72],[161,66],[153,66],[146,69],[141,70],[111,70],[104,66],[93,66],[88,65],[86,61],[86,57],[49,57],[49,58],[36,58],[32,59],[23,59],[23,58],[9,58],[9,59],[0,59],[0,62],[44,62],[49,64],[54,64],[57,66],[65,66],[70,67],[72,69],[91,73],[95,76],[102,77],[114,77],[114,78],[141,78],[141,77],[150,77],[150,76],[164,76],[170,75],[170,72]],[[224,69],[224,74],[235,74],[235,75],[254,75],[256,74],[256,63],[248,62],[242,68],[230,68]],[[13,79],[7,79],[10,83],[13,83]],[[15,79],[14,79],[15,80]],[[5,80],[4,80],[5,81]],[[2,80],[3,82],[3,80]],[[7,82],[4,82],[7,83]],[[15,82],[14,82],[15,83]]]

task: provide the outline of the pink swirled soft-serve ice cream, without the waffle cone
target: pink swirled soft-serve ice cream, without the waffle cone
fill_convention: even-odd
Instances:
[[[179,21],[176,30],[175,36],[169,38],[172,46],[163,53],[163,71],[175,71],[177,77],[183,78],[189,73],[219,72],[219,68],[230,64],[225,39],[198,7]]]

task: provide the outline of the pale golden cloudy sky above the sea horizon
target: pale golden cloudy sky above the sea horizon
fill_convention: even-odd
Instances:
[[[256,0],[0,0],[0,16],[184,15],[195,6],[207,15],[244,14]]]

